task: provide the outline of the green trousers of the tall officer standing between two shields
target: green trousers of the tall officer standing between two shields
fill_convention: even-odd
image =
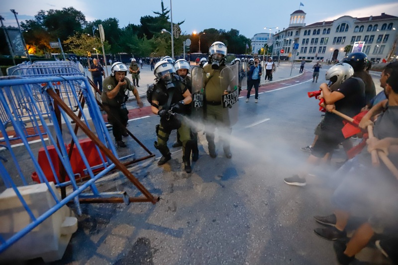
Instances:
[[[221,104],[210,105],[206,103],[206,140],[209,145],[214,143],[214,131],[217,127],[218,138],[222,142],[222,146],[229,147],[230,135],[232,128],[229,123],[228,108],[223,108]]]

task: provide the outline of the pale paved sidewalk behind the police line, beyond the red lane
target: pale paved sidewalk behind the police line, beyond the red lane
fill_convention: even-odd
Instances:
[[[191,66],[195,66],[195,62],[191,62]],[[279,64],[279,67],[277,67],[277,70],[273,73],[273,81],[265,83],[265,81],[264,81],[265,73],[264,73],[262,76],[261,82],[260,82],[260,86],[262,86],[262,87],[268,86],[275,82],[280,82],[280,81],[288,80],[291,78],[296,78],[298,76],[303,75],[303,74],[298,73],[299,67],[300,67],[298,63],[295,64],[293,71],[292,71],[292,75],[290,75],[291,67],[292,67],[292,64],[290,62],[281,62]],[[110,75],[110,66],[107,66],[107,69],[108,69],[108,74]],[[148,86],[150,86],[154,83],[155,76],[153,74],[153,71],[151,71],[150,65],[144,65],[144,67],[142,67],[140,69],[140,71],[141,71],[140,80],[139,80],[140,87],[137,88],[137,90],[138,90],[138,94],[140,95],[140,97],[146,97],[146,90],[148,89]],[[88,71],[88,69],[85,69],[85,73],[88,77],[91,78],[91,73]],[[105,74],[106,74],[106,70],[105,70]],[[132,81],[131,74],[127,74],[127,78],[130,81]],[[129,99],[130,100],[135,99],[135,97],[131,96]]]

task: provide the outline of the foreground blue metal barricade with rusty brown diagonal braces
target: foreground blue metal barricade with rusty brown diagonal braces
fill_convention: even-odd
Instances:
[[[79,100],[81,97],[79,92],[82,93],[84,100]],[[74,201],[78,213],[81,213],[80,201],[85,199],[86,202],[125,203],[135,201],[156,203],[158,200],[118,161],[115,147],[86,77],[72,75],[0,79],[0,111],[0,132],[11,156],[6,164],[5,162],[0,164],[2,180],[0,191],[11,188],[30,217],[30,223],[16,233],[7,236],[0,233],[0,254],[71,200]],[[76,115],[76,111],[79,112],[79,116]],[[16,137],[8,136],[7,125],[12,126]],[[99,160],[95,161],[95,165],[89,161],[87,150],[81,144],[79,138],[81,135],[78,135],[77,129],[83,131],[94,143],[89,152],[98,154]],[[47,133],[51,130],[53,133]],[[48,164],[43,164],[37,159],[37,147],[35,149],[28,142],[28,138],[31,137],[29,132],[34,132],[36,135],[41,153]],[[64,140],[65,133],[70,135],[71,143]],[[16,138],[24,146],[23,159],[20,153],[11,148],[10,141]],[[83,163],[87,173],[84,181],[76,180],[74,163],[77,160]],[[54,204],[40,215],[30,209],[15,184],[19,183],[20,186],[31,183],[28,180],[30,176],[27,176],[25,170],[29,166],[35,171],[40,182],[48,186]],[[95,181],[115,168],[130,179],[143,196],[131,198],[125,192],[101,193]],[[94,169],[97,169],[96,172]],[[59,199],[59,195],[50,186],[48,174],[54,177],[53,181],[57,187],[70,185],[71,193]],[[90,191],[86,190],[88,188]],[[83,193],[84,190],[86,191]]]

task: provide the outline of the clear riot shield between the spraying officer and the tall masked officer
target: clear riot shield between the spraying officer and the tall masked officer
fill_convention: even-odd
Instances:
[[[195,132],[203,129],[203,101],[204,101],[204,82],[203,69],[195,66],[191,70],[192,79],[192,112],[191,112],[191,128]]]

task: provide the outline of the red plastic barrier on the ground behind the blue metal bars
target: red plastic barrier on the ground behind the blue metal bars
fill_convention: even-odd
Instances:
[[[95,148],[95,144],[90,138],[79,140],[79,143],[82,146],[83,153],[85,154],[90,167],[94,167],[94,166],[98,166],[98,165],[102,164],[100,154],[97,152],[97,150]],[[69,152],[69,148],[70,148],[70,145],[67,148],[68,152]],[[51,158],[51,163],[54,165],[54,169],[57,173],[58,180],[60,180],[59,165],[58,165],[59,162],[58,162],[57,152],[55,151],[54,146],[48,146],[47,150],[48,150],[48,153]],[[102,155],[103,159],[105,160],[105,156],[102,152],[101,152],[101,155]],[[54,178],[54,174],[51,171],[50,162],[48,161],[46,153],[44,152],[44,147],[40,148],[37,160],[38,160],[38,163],[39,163],[41,169],[43,170],[44,175],[46,176],[47,180],[56,182],[55,178]],[[70,162],[71,162],[71,166],[72,166],[72,170],[73,170],[74,174],[80,174],[80,176],[85,175],[84,171],[86,170],[86,166],[83,163],[82,157],[80,156],[76,145],[73,147]],[[40,183],[40,179],[37,176],[36,172],[33,172],[31,177],[32,177],[33,181]],[[70,179],[67,176],[65,181],[69,181],[69,180]]]

